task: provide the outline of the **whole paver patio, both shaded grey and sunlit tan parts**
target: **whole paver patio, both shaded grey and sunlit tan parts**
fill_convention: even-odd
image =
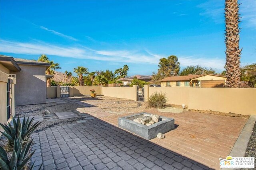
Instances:
[[[166,133],[164,139],[146,141],[117,127],[118,117],[124,115],[97,109],[79,109],[95,117],[85,123],[34,133],[32,149],[37,150],[32,162],[43,162],[44,169],[219,169],[219,158],[229,155],[247,121],[194,111],[165,113],[151,109],[146,112],[174,118],[176,129]]]

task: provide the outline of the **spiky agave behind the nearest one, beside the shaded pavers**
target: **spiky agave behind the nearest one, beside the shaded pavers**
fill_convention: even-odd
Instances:
[[[23,141],[22,146],[24,146],[28,142],[29,137],[33,133],[33,131],[40,125],[40,123],[42,123],[38,121],[32,125],[32,122],[34,121],[34,117],[31,120],[29,120],[29,117],[28,119],[24,117],[22,123],[19,117],[17,121],[14,118],[12,120],[13,120],[13,126],[10,123],[8,123],[8,125],[6,124],[3,125],[2,123],[0,123],[0,125],[5,131],[5,132],[2,132],[2,131],[0,132],[9,141],[6,146],[6,150],[8,151],[12,150],[12,148],[14,147],[15,138],[19,139],[19,141]]]

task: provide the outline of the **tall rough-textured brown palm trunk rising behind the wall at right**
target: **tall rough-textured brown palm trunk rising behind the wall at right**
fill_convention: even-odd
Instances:
[[[226,22],[226,84],[228,87],[240,86],[240,55],[238,0],[225,0],[225,22]]]

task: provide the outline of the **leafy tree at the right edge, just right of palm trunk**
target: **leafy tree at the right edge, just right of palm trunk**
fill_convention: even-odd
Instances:
[[[256,87],[256,63],[241,68],[241,80],[247,81],[250,87]]]

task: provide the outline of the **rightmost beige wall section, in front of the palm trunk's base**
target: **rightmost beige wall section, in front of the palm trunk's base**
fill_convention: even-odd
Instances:
[[[256,115],[256,88],[190,88],[188,108]]]

